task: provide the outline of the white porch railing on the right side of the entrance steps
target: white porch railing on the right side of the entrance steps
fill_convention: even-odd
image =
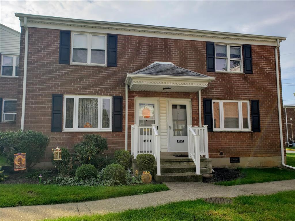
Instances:
[[[203,127],[192,127],[188,125],[187,131],[189,158],[193,159],[196,165],[196,174],[201,174],[200,155],[209,158],[207,125]]]

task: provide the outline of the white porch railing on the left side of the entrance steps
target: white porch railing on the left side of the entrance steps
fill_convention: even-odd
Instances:
[[[153,154],[157,162],[157,175],[161,175],[160,135],[157,126],[131,125],[131,154],[134,159],[138,154]]]

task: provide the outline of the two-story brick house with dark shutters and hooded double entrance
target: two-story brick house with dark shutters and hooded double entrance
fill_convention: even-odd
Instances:
[[[278,46],[286,38],[16,16],[18,128],[69,150],[98,133],[109,154],[154,154],[158,175],[173,160],[195,175],[211,164],[282,165]]]

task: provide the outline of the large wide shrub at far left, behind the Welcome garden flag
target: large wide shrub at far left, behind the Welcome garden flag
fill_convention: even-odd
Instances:
[[[48,137],[37,131],[6,131],[0,133],[3,155],[13,165],[13,154],[26,153],[27,168],[35,166],[44,156]]]

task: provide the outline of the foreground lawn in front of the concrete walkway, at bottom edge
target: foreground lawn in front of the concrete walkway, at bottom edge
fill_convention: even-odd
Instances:
[[[197,199],[106,215],[63,217],[54,221],[295,220],[294,195],[295,191],[285,191],[273,195],[241,196],[233,198],[233,204],[223,205]]]

